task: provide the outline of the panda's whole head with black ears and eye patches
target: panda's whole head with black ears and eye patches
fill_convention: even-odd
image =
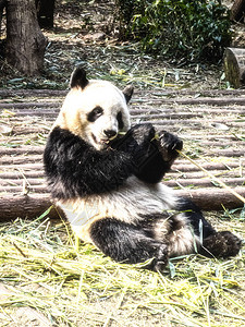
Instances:
[[[56,125],[103,149],[110,140],[130,129],[127,102],[132,94],[132,86],[121,92],[109,82],[88,81],[86,72],[76,68]]]

